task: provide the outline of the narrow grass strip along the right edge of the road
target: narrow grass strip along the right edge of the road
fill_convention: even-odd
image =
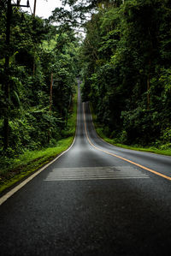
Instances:
[[[94,127],[96,129],[98,136],[101,137],[106,142],[108,142],[109,144],[112,144],[114,146],[119,146],[122,148],[131,149],[131,150],[141,151],[141,152],[152,152],[152,153],[156,153],[156,154],[171,156],[171,148],[160,149],[160,148],[156,148],[153,146],[151,146],[151,147],[142,147],[142,146],[137,146],[137,145],[128,146],[128,145],[124,145],[121,143],[117,143],[115,141],[115,139],[108,138],[105,134],[103,134],[103,126],[99,122],[97,122],[97,116],[95,115],[91,104],[90,104],[90,108],[91,108],[92,120],[93,120]]]

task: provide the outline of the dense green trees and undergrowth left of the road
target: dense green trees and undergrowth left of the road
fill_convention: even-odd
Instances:
[[[26,150],[56,145],[68,136],[79,46],[72,29],[64,31],[14,6],[8,43],[7,3],[1,1],[0,8],[2,161],[4,156],[13,158]]]

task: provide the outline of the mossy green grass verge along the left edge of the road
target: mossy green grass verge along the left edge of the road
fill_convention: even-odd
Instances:
[[[49,163],[57,155],[66,151],[73,143],[77,120],[77,93],[74,95],[73,109],[68,116],[68,126],[63,132],[65,139],[58,140],[56,146],[43,148],[37,151],[27,151],[18,158],[9,160],[8,167],[0,167],[0,193],[21,182],[34,171]]]

